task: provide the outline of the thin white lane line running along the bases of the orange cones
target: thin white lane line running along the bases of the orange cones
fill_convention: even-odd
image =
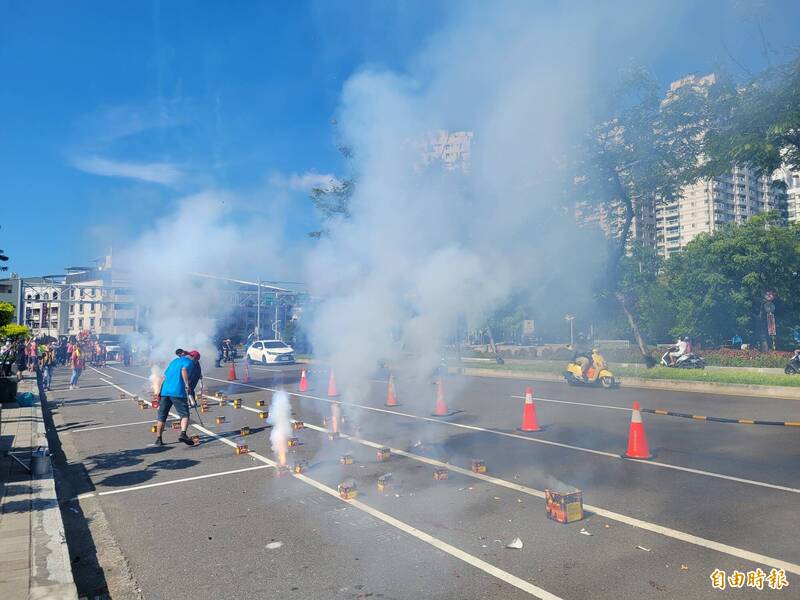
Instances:
[[[141,375],[136,375],[136,377],[141,377]],[[257,389],[257,390],[266,390],[268,392],[277,392],[277,391],[279,391],[279,390],[277,390],[275,388],[261,387],[261,386],[257,386],[257,385],[252,385],[250,383],[226,382],[226,381],[224,381],[222,379],[216,379],[214,377],[207,377],[206,379],[210,379],[211,381],[220,381],[222,383],[233,383],[235,385],[240,385],[240,386],[243,386],[243,387],[250,387],[250,388],[253,388],[253,389]],[[419,421],[426,421],[426,422],[429,422],[429,423],[438,423],[440,425],[447,425],[449,427],[458,427],[460,429],[468,429],[470,431],[480,431],[480,432],[483,432],[483,433],[491,433],[491,434],[500,435],[500,436],[503,436],[503,437],[509,437],[509,438],[514,438],[514,439],[518,439],[518,440],[524,440],[526,442],[531,442],[531,443],[534,443],[534,444],[544,444],[546,446],[556,446],[558,448],[566,448],[568,450],[575,450],[577,452],[586,452],[587,454],[595,454],[597,456],[605,456],[607,458],[613,458],[614,460],[625,460],[620,456],[620,454],[614,453],[614,452],[605,452],[603,450],[595,450],[593,448],[583,448],[581,446],[573,446],[572,444],[564,444],[562,442],[553,442],[553,441],[550,441],[550,440],[542,440],[542,439],[538,439],[538,438],[519,435],[519,434],[516,434],[516,433],[509,433],[507,431],[498,431],[497,429],[487,429],[485,427],[477,427],[475,425],[465,425],[463,423],[453,423],[453,422],[450,422],[450,421],[442,421],[440,419],[434,419],[434,418],[431,418],[431,417],[422,417],[422,416],[413,415],[413,414],[410,414],[410,413],[404,413],[404,412],[395,411],[395,410],[387,410],[387,409],[384,409],[384,408],[377,408],[377,407],[374,407],[374,406],[365,406],[363,404],[354,404],[354,403],[351,403],[351,402],[341,402],[339,400],[331,400],[329,398],[321,398],[319,396],[311,396],[309,394],[301,394],[299,392],[292,392],[292,391],[289,391],[289,390],[283,390],[283,391],[285,391],[290,396],[297,396],[299,398],[311,398],[313,400],[320,400],[322,402],[327,402],[328,404],[332,404],[334,402],[338,402],[338,403],[342,404],[343,406],[352,406],[353,408],[360,408],[360,409],[363,409],[363,410],[371,410],[371,411],[374,411],[374,412],[386,413],[386,414],[395,415],[395,416],[398,416],[398,417],[405,417],[405,418],[408,418],[408,419],[417,419]],[[758,487],[762,487],[762,488],[768,488],[768,489],[772,489],[772,490],[779,490],[781,492],[790,492],[792,494],[800,494],[800,489],[797,489],[797,488],[787,487],[787,486],[783,486],[783,485],[777,485],[777,484],[774,484],[774,483],[767,483],[765,481],[756,481],[756,480],[753,480],[753,479],[744,479],[743,477],[734,477],[733,475],[724,475],[722,473],[714,473],[713,471],[703,471],[701,469],[692,469],[692,468],[689,468],[689,467],[681,467],[679,465],[671,465],[671,464],[668,464],[668,463],[662,463],[662,462],[658,462],[658,461],[655,461],[655,460],[631,460],[631,461],[628,461],[628,462],[633,463],[633,464],[637,464],[637,465],[642,465],[642,466],[660,467],[660,468],[663,468],[663,469],[672,469],[674,471],[682,471],[684,473],[691,473],[693,475],[702,475],[702,476],[705,476],[705,477],[714,477],[716,479],[725,479],[727,481],[735,481],[736,483],[744,483],[744,484],[747,484],[747,485],[754,485],[754,486],[758,486]]]

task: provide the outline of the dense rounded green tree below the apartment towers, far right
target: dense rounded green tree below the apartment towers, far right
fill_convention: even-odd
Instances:
[[[782,333],[800,324],[800,225],[766,213],[701,235],[665,264],[672,333],[722,344],[735,334],[766,345],[764,294],[773,291]]]

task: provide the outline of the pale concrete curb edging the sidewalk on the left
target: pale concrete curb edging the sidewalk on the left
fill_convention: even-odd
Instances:
[[[49,450],[42,418],[42,398],[35,380],[20,382],[19,392],[36,397],[36,445]],[[31,578],[29,600],[78,600],[72,578],[64,522],[56,495],[53,465],[43,475],[31,475]]]

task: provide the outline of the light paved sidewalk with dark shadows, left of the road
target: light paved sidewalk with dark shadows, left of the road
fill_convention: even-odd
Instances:
[[[0,598],[77,600],[49,460],[37,476],[8,456],[19,453],[27,465],[34,450],[47,448],[35,379],[20,382],[25,392],[34,394],[33,406],[0,408]]]

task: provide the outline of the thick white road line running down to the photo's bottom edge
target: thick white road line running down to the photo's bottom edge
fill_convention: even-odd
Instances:
[[[113,369],[114,367],[110,367],[110,368]],[[133,375],[134,377],[140,377],[141,379],[146,379],[146,377],[142,377],[141,375],[136,375],[134,373],[128,373],[128,375]],[[114,387],[118,387],[118,386],[115,385]],[[130,394],[130,392],[128,392],[127,390],[124,390],[122,388],[119,388],[119,389],[124,391],[124,392],[126,392],[126,393],[128,393],[128,394]],[[201,431],[203,431],[203,430],[208,431],[204,427],[200,427],[199,425],[195,425],[194,423],[192,423],[192,426],[196,427],[197,429],[199,429]],[[214,434],[214,433],[212,433],[210,431],[208,431],[208,433],[210,435],[213,435],[214,437],[219,438],[219,436],[217,436],[216,434]],[[225,443],[228,443],[228,444],[230,444],[232,446],[235,446],[235,444],[233,444],[232,442],[229,442],[228,440],[226,440],[224,438],[219,438],[219,439],[222,442],[225,442]],[[261,456],[260,454],[257,454],[255,452],[251,452],[249,454],[249,456],[253,456],[254,458],[257,458],[261,462],[263,462],[266,465],[269,465],[271,467],[276,466],[276,463],[274,461],[272,461],[269,458],[266,458],[264,456]],[[290,473],[290,475],[292,477],[294,477],[295,479],[298,479],[298,480],[302,481],[303,483],[306,483],[306,484],[308,484],[310,486],[313,486],[313,487],[317,488],[321,492],[325,492],[326,494],[336,498],[340,502],[345,502],[346,504],[349,504],[349,505],[351,505],[351,506],[353,506],[355,508],[358,508],[359,510],[367,513],[368,515],[383,521],[387,525],[391,525],[392,527],[395,527],[396,529],[399,529],[400,531],[403,531],[404,533],[407,533],[408,535],[411,535],[411,536],[417,538],[418,540],[425,542],[426,544],[430,544],[434,548],[437,548],[437,549],[441,550],[442,552],[446,552],[450,556],[453,556],[454,558],[457,558],[457,559],[459,559],[459,560],[461,560],[461,561],[463,561],[463,562],[465,562],[465,563],[467,563],[469,565],[472,565],[473,567],[475,567],[477,569],[480,569],[481,571],[491,575],[492,577],[500,579],[501,581],[505,581],[509,585],[513,585],[514,587],[516,587],[516,588],[518,588],[518,589],[520,589],[520,590],[522,590],[524,592],[527,592],[527,593],[531,594],[532,596],[540,598],[541,600],[562,600],[559,596],[556,596],[555,594],[551,594],[550,592],[548,592],[547,590],[545,590],[543,588],[540,588],[540,587],[538,587],[536,585],[533,585],[532,583],[530,583],[528,581],[525,581],[524,579],[521,579],[521,578],[517,577],[516,575],[513,575],[513,574],[509,573],[508,571],[504,571],[504,570],[502,570],[502,569],[500,569],[498,567],[495,567],[494,565],[492,565],[492,564],[490,564],[490,563],[488,563],[488,562],[486,562],[484,560],[481,560],[477,556],[473,556],[471,554],[468,554],[467,552],[464,552],[463,550],[461,550],[459,548],[456,548],[455,546],[451,546],[447,542],[444,542],[444,541],[442,541],[442,540],[440,540],[438,538],[435,538],[432,535],[430,535],[428,533],[425,533],[424,531],[420,531],[416,527],[412,527],[411,525],[408,525],[407,523],[405,523],[403,521],[400,521],[399,519],[395,519],[394,517],[392,517],[392,516],[390,516],[390,515],[388,515],[386,513],[383,513],[381,511],[375,509],[375,508],[372,508],[371,506],[369,506],[367,504],[364,504],[363,502],[359,502],[358,500],[343,500],[339,496],[339,492],[337,490],[334,490],[333,488],[330,488],[327,485],[325,485],[323,483],[320,483],[316,479],[311,479],[307,475],[302,475],[300,473]],[[155,486],[157,484],[149,484],[149,485]]]

